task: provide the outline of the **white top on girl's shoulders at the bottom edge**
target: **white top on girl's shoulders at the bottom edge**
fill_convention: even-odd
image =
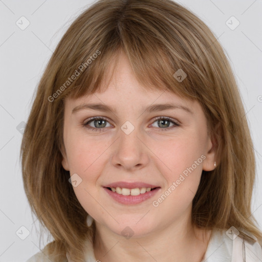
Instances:
[[[226,230],[213,229],[209,240],[205,257],[201,262],[261,262],[262,247],[258,242],[250,243],[241,237],[233,235],[233,240],[226,234]],[[45,252],[45,254],[43,253]],[[45,249],[39,251],[26,262],[50,262]],[[67,254],[64,262],[73,262]],[[93,244],[88,239],[86,241],[86,251],[84,262],[97,262],[95,258]],[[52,261],[55,262],[55,261]]]

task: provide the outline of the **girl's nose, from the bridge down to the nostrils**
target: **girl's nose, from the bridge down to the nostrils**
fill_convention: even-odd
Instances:
[[[124,128],[120,129],[119,138],[113,147],[112,164],[117,168],[129,171],[146,166],[149,162],[148,148],[142,141],[139,128],[134,128],[131,133],[126,132]]]

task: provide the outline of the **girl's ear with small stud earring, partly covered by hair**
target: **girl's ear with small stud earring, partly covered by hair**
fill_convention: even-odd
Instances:
[[[214,133],[217,134],[219,126],[215,127]],[[215,169],[214,163],[219,161],[216,157],[217,152],[217,137],[214,134],[209,134],[206,147],[206,159],[203,161],[203,170],[212,171]]]

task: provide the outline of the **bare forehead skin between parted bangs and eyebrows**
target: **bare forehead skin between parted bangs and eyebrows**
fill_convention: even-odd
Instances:
[[[106,104],[189,103],[189,99],[174,94],[164,86],[143,86],[137,81],[127,56],[121,52],[107,70],[101,91],[77,99],[65,99],[72,104],[96,102]]]

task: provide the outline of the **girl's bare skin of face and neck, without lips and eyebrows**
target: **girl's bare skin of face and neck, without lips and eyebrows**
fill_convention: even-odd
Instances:
[[[104,103],[116,113],[83,109],[83,103]],[[156,103],[176,103],[188,107],[143,113],[143,107]],[[128,106],[127,106],[128,105]],[[108,118],[102,125],[91,117]],[[170,117],[159,124],[156,117]],[[126,135],[121,126],[129,121],[135,129]],[[105,126],[105,127],[104,127]],[[173,127],[173,128],[172,128]],[[119,56],[117,70],[103,93],[65,100],[62,165],[82,182],[73,187],[82,207],[96,224],[94,252],[102,262],[118,261],[201,261],[211,231],[191,224],[192,200],[197,192],[202,170],[214,169],[215,148],[208,135],[207,120],[197,101],[160,90],[148,91],[136,80],[127,57]],[[152,205],[180,174],[201,155],[197,165],[158,207]],[[157,194],[137,205],[115,202],[102,186],[117,182],[141,181],[158,185]],[[125,238],[121,231],[129,227],[134,235]]]

